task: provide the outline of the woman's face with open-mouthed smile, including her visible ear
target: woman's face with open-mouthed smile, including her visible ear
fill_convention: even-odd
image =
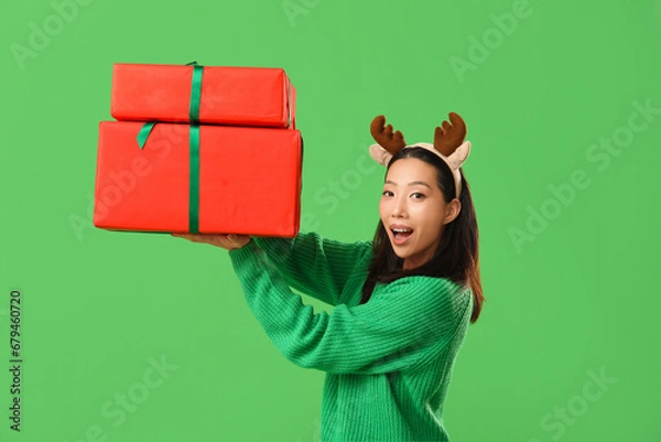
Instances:
[[[403,269],[429,261],[441,239],[443,226],[459,214],[460,203],[443,200],[433,165],[415,158],[395,161],[388,171],[379,214],[390,244]]]

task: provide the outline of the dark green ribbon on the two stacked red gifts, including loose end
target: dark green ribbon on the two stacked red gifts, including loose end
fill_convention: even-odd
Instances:
[[[188,185],[188,231],[199,233],[199,104],[202,99],[202,76],[204,67],[197,62],[187,63],[193,66],[193,80],[191,84],[191,106],[188,116],[191,126],[188,131],[189,144],[189,185]],[[140,149],[147,144],[152,129],[158,121],[150,121],[142,126],[138,133],[138,145]]]

